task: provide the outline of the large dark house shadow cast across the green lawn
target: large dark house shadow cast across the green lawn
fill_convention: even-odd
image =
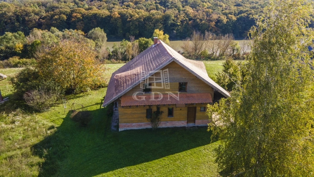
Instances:
[[[54,134],[34,145],[33,153],[45,160],[39,176],[94,176],[210,143],[206,127],[111,132],[107,109],[90,111],[87,127],[68,114]]]

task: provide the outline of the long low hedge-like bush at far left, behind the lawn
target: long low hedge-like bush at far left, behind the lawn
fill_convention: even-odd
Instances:
[[[17,56],[11,57],[8,60],[0,61],[0,68],[17,68],[25,66],[34,66],[35,59],[20,59]]]

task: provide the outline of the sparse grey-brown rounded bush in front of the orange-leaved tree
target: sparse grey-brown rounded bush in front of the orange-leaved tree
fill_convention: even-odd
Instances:
[[[45,89],[31,90],[23,95],[26,104],[38,111],[47,111],[54,106],[59,94]]]

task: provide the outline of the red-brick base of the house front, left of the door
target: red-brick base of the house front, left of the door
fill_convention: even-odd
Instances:
[[[184,127],[187,126],[187,121],[169,121],[160,122],[159,127]],[[149,122],[146,123],[119,123],[119,131],[129,129],[151,128]]]

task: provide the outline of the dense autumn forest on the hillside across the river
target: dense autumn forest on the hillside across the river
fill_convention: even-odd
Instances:
[[[149,38],[155,29],[171,39],[194,30],[247,37],[265,0],[5,0],[0,1],[0,35],[34,28],[81,30],[99,27],[108,38]]]

